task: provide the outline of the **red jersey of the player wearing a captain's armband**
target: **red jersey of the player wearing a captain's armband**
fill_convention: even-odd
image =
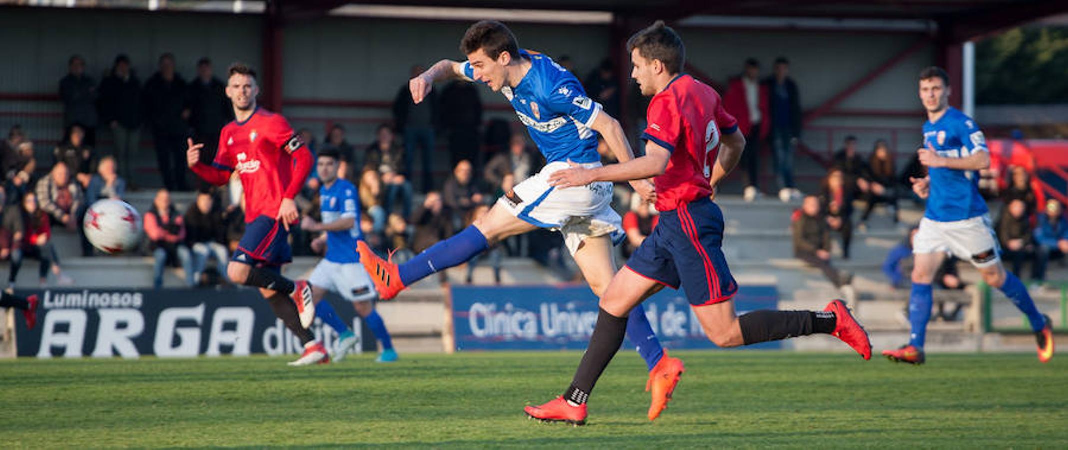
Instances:
[[[231,122],[219,135],[217,169],[237,171],[245,188],[245,221],[278,217],[283,193],[293,179],[293,152],[303,145],[289,122],[257,108],[245,122]]]

